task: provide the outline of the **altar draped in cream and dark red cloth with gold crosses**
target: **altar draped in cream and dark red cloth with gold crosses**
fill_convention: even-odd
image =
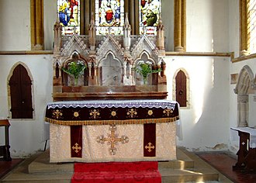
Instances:
[[[45,119],[53,163],[176,159],[177,102],[52,102]]]

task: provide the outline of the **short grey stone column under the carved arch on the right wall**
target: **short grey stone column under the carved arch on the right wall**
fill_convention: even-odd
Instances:
[[[248,95],[237,95],[238,127],[248,126]]]

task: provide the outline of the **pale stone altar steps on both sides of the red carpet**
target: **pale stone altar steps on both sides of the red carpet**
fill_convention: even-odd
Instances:
[[[177,154],[177,161],[159,162],[162,182],[217,182],[219,180],[218,172],[206,162],[196,157],[189,157],[189,152],[179,148]],[[73,166],[71,163],[50,164],[49,154],[43,152],[23,161],[19,167],[7,174],[2,182],[71,182]]]

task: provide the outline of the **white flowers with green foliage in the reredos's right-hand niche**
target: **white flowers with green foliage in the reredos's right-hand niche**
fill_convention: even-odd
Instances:
[[[147,77],[151,73],[158,73],[161,71],[161,68],[157,70],[152,70],[152,63],[150,61],[140,60],[137,64],[138,66],[135,68],[137,73],[139,73],[143,77],[144,85],[147,82]]]

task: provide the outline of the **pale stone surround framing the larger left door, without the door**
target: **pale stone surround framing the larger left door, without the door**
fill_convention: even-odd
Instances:
[[[12,108],[12,102],[11,102],[11,88],[10,88],[10,85],[9,85],[9,81],[10,81],[10,79],[11,79],[11,77],[12,77],[13,71],[16,69],[16,67],[17,67],[19,64],[21,64],[23,67],[25,67],[25,69],[26,69],[26,71],[27,71],[27,73],[28,73],[28,75],[29,75],[29,78],[30,78],[30,80],[31,80],[31,95],[32,95],[32,98],[31,98],[31,99],[32,99],[32,107],[33,107],[33,119],[35,119],[34,79],[33,79],[33,75],[31,74],[31,71],[30,71],[29,67],[28,67],[25,63],[23,63],[23,62],[21,62],[21,61],[16,62],[16,64],[13,64],[12,68],[11,68],[10,71],[9,71],[9,75],[8,75],[8,77],[7,77],[7,95],[8,95],[8,98],[7,98],[7,99],[8,99],[9,118],[12,117],[12,112],[11,112],[11,108]]]

